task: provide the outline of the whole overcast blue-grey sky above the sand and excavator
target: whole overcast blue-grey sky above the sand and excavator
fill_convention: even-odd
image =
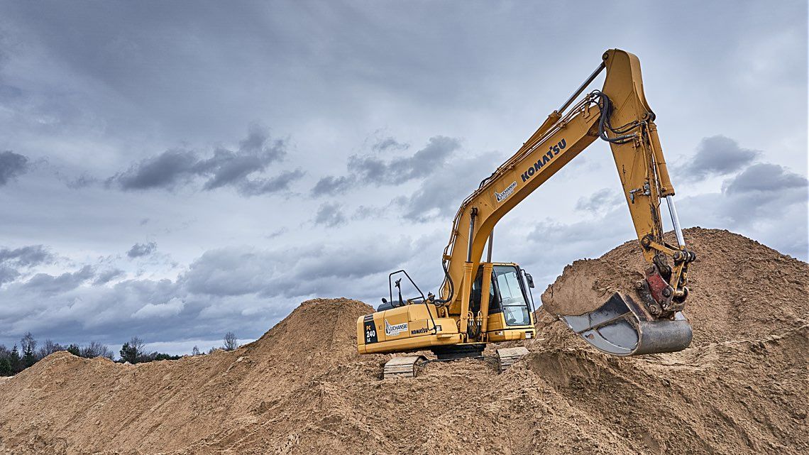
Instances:
[[[806,261],[803,1],[2,2],[0,342],[182,353],[401,267],[435,291],[460,201],[615,47],[684,225]],[[633,235],[595,142],[494,259],[541,291]]]

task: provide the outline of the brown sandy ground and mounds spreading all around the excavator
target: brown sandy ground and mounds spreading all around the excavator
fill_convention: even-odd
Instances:
[[[311,300],[229,353],[50,355],[0,383],[0,453],[805,453],[809,266],[730,232],[686,238],[686,351],[608,357],[546,315],[503,374],[462,360],[380,381],[389,357],[354,351],[371,308]],[[641,270],[634,248],[604,258]]]

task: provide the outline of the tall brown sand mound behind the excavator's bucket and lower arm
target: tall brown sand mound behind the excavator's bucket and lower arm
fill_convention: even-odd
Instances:
[[[684,311],[695,325],[695,344],[761,338],[806,323],[806,262],[728,231],[689,228],[684,238],[688,249],[697,253],[688,269],[693,292]],[[544,291],[543,308],[555,314],[591,311],[592,304],[603,304],[612,292],[632,294],[645,266],[635,240],[597,259],[576,261]]]

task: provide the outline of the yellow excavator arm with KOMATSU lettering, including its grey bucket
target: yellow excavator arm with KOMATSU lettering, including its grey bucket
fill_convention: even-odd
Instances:
[[[573,101],[602,71],[604,87]],[[570,107],[570,104],[573,104]],[[570,107],[570,108],[569,108]],[[461,204],[443,253],[445,280],[431,303],[468,325],[470,290],[493,228],[519,202],[570,163],[596,139],[609,142],[629,213],[648,262],[646,279],[633,296],[613,296],[604,306],[562,319],[602,351],[616,355],[677,351],[691,341],[680,313],[688,296],[688,263],[696,257],[685,247],[673,202],[654,113],[643,93],[640,62],[632,53],[611,49],[603,62],[531,138]],[[663,239],[660,202],[665,198],[677,245]]]

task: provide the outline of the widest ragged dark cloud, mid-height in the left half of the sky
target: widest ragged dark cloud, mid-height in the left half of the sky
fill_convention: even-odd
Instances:
[[[287,189],[292,181],[303,176],[299,170],[270,178],[258,176],[284,155],[285,142],[272,140],[265,131],[254,127],[248,137],[239,142],[236,151],[218,148],[210,158],[202,158],[195,151],[164,151],[110,177],[107,185],[117,185],[124,190],[176,189],[197,178],[205,178],[202,189],[208,191],[232,186],[246,196],[274,193]]]

